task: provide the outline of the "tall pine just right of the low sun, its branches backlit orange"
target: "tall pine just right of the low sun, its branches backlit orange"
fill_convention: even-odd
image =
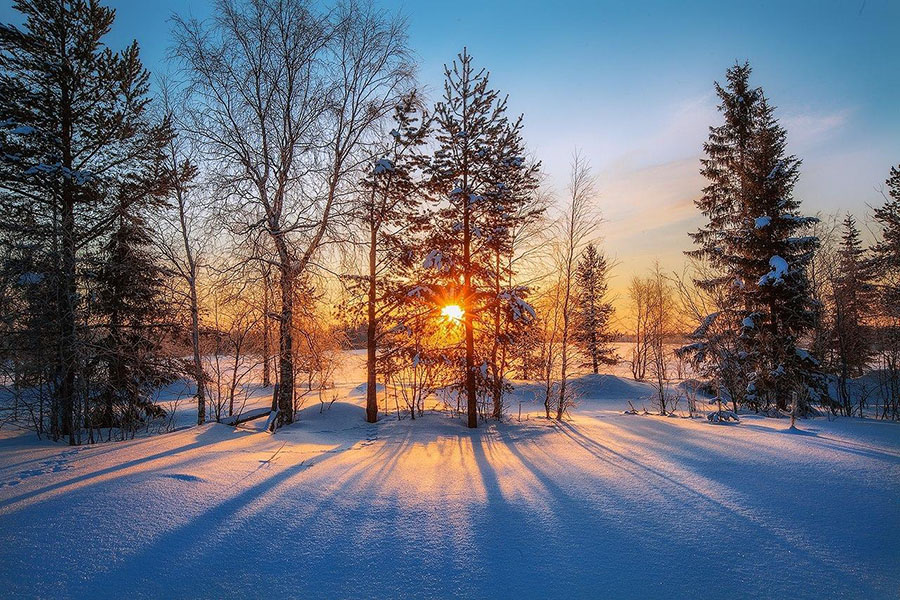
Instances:
[[[429,165],[429,187],[438,208],[425,264],[442,288],[437,301],[463,309],[462,387],[468,426],[477,427],[479,389],[496,397],[501,385],[487,377],[495,362],[497,305],[506,304],[522,322],[531,315],[520,290],[498,293],[503,276],[498,256],[508,249],[516,207],[530,193],[537,166],[523,156],[521,118],[509,122],[506,99],[490,88],[487,71],[476,70],[466,50],[458,58],[445,67],[444,99],[435,109],[438,148]]]

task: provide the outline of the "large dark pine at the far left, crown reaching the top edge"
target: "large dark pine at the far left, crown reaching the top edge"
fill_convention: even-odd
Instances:
[[[56,355],[50,429],[76,443],[85,376],[80,263],[115,221],[115,189],[157,169],[168,123],[147,115],[138,46],[103,44],[114,11],[95,0],[19,0],[0,26],[0,222],[48,257]],[[130,203],[130,200],[128,201]],[[19,235],[21,234],[21,235]]]

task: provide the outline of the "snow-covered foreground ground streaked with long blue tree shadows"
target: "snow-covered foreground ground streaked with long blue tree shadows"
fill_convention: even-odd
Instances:
[[[584,376],[561,425],[528,386],[521,422],[368,425],[351,366],[275,435],[0,430],[0,597],[900,594],[896,423],[625,415],[646,385]]]

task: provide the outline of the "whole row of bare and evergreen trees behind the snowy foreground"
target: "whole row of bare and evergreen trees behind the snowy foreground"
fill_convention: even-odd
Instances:
[[[242,410],[250,381],[271,386],[274,430],[324,398],[351,338],[370,422],[421,416],[448,389],[477,427],[504,417],[512,379],[539,381],[563,419],[573,372],[621,361],[660,414],[686,400],[693,416],[702,388],[713,421],[900,419],[900,169],[886,167],[869,248],[852,216],[805,216],[800,160],[748,63],[716,84],[688,268],[635,275],[617,317],[589,161],[576,152],[566,190],[547,189],[523,117],[465,49],[431,102],[396,15],[219,0],[210,20],[173,19],[173,75],[152,90],[137,42],[105,46],[111,9],[14,7],[3,423],[125,438],[171,420],[154,394],[187,379],[199,424]]]

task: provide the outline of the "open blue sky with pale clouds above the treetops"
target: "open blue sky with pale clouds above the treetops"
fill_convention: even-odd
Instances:
[[[528,144],[560,193],[573,150],[583,150],[620,285],[655,258],[681,263],[700,222],[701,145],[718,122],[712,84],[735,60],[750,60],[804,161],[797,195],[807,212],[863,216],[900,163],[897,0],[380,3],[406,16],[432,97],[442,65],[468,46],[525,113]],[[109,4],[111,45],[137,38],[154,71],[166,68],[168,17],[211,11],[201,0]],[[9,3],[0,18],[16,20]]]

